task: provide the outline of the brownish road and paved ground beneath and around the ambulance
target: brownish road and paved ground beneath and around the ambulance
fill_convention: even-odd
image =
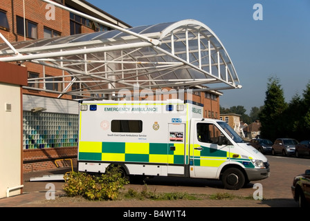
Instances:
[[[46,184],[50,182],[29,182],[30,177],[41,177],[47,174],[64,174],[70,169],[55,169],[24,174],[24,194],[0,199],[0,207],[298,207],[293,200],[291,184],[293,177],[303,173],[310,167],[310,159],[295,157],[274,157],[267,155],[271,164],[271,176],[257,183],[262,184],[263,200],[123,200],[109,202],[62,202],[46,200]],[[64,182],[52,182],[55,185],[55,195],[62,195]],[[233,195],[253,196],[257,188],[255,182],[244,189],[230,191],[223,188],[221,182],[215,180],[181,179],[180,177],[155,177],[145,180],[149,191],[156,192],[186,192],[202,193],[231,193]],[[128,184],[125,189],[143,189],[145,184]]]

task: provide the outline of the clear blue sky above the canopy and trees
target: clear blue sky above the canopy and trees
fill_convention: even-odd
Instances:
[[[270,77],[280,79],[286,102],[310,83],[310,0],[86,1],[133,27],[183,19],[206,24],[224,44],[242,85],[221,91],[224,108],[244,106],[249,114],[264,105]]]

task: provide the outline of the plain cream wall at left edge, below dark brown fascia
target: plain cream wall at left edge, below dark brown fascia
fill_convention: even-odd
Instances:
[[[6,190],[22,183],[21,170],[21,88],[0,83],[0,198]],[[6,104],[12,111],[6,111]],[[21,190],[10,191],[11,195]]]

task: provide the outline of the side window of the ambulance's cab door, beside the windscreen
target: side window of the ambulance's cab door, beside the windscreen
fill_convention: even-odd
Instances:
[[[220,135],[221,131],[215,124],[197,124],[197,140],[199,142],[217,144]]]

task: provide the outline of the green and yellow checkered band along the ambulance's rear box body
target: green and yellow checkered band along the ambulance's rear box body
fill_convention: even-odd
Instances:
[[[184,164],[184,144],[80,142],[79,160]]]

